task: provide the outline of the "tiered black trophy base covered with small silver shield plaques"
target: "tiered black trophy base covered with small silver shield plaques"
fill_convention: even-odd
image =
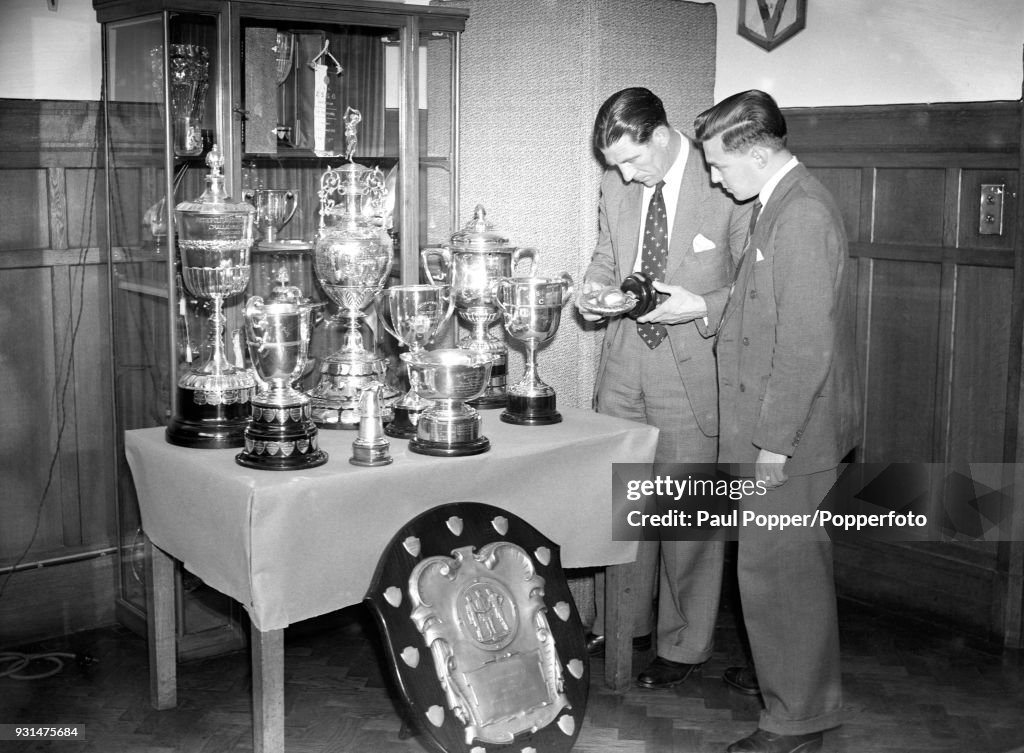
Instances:
[[[327,453],[319,449],[308,403],[289,407],[253,403],[245,450],[234,456],[239,465],[257,470],[302,470],[324,465],[327,459]]]

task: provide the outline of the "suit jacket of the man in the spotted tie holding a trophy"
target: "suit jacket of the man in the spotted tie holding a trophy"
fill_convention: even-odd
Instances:
[[[643,222],[642,204],[642,184],[624,182],[616,170],[605,171],[599,205],[600,235],[586,280],[617,287],[633,273],[639,253],[637,239]],[[712,185],[703,153],[690,141],[663,282],[681,285],[697,293],[728,285],[734,275],[734,262],[742,252],[749,218],[749,207],[736,205],[724,192]],[[713,243],[714,248],[695,250],[694,241],[699,236]],[[699,241],[697,245],[707,244]],[[625,317],[608,322],[598,365],[597,387],[604,378],[608,348],[626,334],[622,331],[625,327],[635,330],[636,322]],[[711,343],[691,323],[670,325],[668,330],[679,366],[679,378],[686,388],[697,423],[706,434],[715,436],[718,434],[718,395]]]

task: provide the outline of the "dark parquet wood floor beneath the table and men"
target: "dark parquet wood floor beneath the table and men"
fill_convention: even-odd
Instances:
[[[846,723],[826,753],[1024,753],[1024,662],[933,629],[841,606]],[[757,724],[758,700],[730,692],[741,658],[725,612],[718,650],[671,691],[591,687],[579,753],[721,753]],[[352,608],[286,631],[289,753],[423,753],[403,734],[378,663],[375,629]],[[120,627],[24,651],[73,652],[58,674],[0,678],[0,722],[86,725],[85,742],[0,742],[4,753],[243,753],[252,750],[247,653],[178,668],[179,706],[150,708],[145,641]],[[634,657],[636,670],[651,654]],[[601,677],[600,660],[592,675]]]

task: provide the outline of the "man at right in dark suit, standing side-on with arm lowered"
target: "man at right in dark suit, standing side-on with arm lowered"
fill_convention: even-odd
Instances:
[[[774,99],[734,94],[694,122],[712,179],[754,199],[736,280],[668,292],[717,341],[719,456],[767,489],[743,510],[813,514],[859,437],[854,305],[843,217],[786,149]],[[753,667],[724,679],[761,693],[758,729],[729,753],[813,753],[841,722],[831,546],[820,531],[738,530],[737,577]]]

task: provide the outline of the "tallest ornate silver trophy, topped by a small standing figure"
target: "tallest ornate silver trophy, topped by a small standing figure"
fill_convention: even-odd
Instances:
[[[347,157],[351,160],[358,113],[349,111],[348,121]],[[377,352],[376,338],[365,332],[369,328],[364,323],[365,309],[384,287],[393,259],[383,210],[386,193],[380,168],[350,161],[321,176],[313,265],[345,326],[344,344],[323,360],[319,382],[309,392],[313,420],[323,428],[358,428],[362,389],[372,382],[386,383],[387,359]],[[397,390],[388,390],[384,400],[393,401]]]

